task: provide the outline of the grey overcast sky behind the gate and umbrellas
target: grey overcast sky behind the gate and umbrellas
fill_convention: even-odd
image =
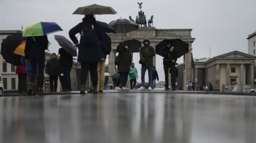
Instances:
[[[193,58],[211,58],[234,50],[248,53],[247,37],[256,31],[256,0],[1,0],[0,30],[23,30],[37,22],[56,22],[63,31],[49,34],[50,53],[58,53],[60,46],[53,35],[69,39],[68,31],[81,22],[82,15],[72,15],[78,8],[91,4],[111,6],[117,14],[96,15],[96,19],[109,23],[122,18],[136,18],[138,3],[147,19],[154,15],[157,29],[193,29]],[[211,46],[211,52],[210,47]],[[107,59],[108,61],[108,59]],[[138,59],[139,61],[139,59]],[[135,66],[139,71],[138,61]],[[183,57],[178,59],[183,63]],[[164,81],[162,59],[157,56],[157,71]],[[147,73],[146,73],[147,74]],[[145,77],[147,82],[147,77]]]

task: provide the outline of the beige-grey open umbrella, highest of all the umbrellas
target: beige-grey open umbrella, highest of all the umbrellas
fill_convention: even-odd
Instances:
[[[101,15],[101,14],[116,14],[117,12],[112,7],[106,7],[103,5],[88,5],[85,7],[79,7],[73,14],[80,15]]]

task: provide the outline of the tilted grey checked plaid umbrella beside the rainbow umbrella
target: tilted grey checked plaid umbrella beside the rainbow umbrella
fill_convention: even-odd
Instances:
[[[76,48],[73,43],[71,43],[67,38],[61,35],[54,35],[54,39],[59,43],[61,47],[68,53],[70,53],[73,57],[76,57]]]

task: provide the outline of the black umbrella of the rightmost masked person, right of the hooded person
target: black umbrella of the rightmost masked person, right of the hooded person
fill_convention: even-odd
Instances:
[[[175,48],[176,56],[178,58],[188,53],[188,46],[189,46],[188,43],[182,41],[179,38],[170,38],[170,39],[164,39],[162,42],[158,43],[155,46],[156,54],[164,57],[163,49],[166,48],[166,42],[170,42],[172,44],[172,47]]]

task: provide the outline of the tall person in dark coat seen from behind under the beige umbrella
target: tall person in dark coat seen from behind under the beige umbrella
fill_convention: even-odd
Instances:
[[[99,43],[97,40],[97,43],[94,43],[93,45],[86,45],[84,43],[84,36],[87,36],[87,34],[84,35],[83,31],[84,27],[86,27],[88,24],[92,24],[93,26],[93,33],[97,36],[97,39],[99,41],[104,41],[104,35],[101,27],[99,24],[96,23],[95,18],[93,15],[85,15],[83,18],[83,22],[79,23],[75,27],[73,27],[71,30],[69,30],[69,37],[73,41],[74,44],[77,44],[78,46],[78,62],[81,63],[81,74],[80,74],[80,93],[84,94],[84,88],[87,80],[87,75],[90,70],[91,74],[91,81],[93,84],[93,93],[98,93],[97,85],[98,85],[98,74],[97,74],[97,67],[98,62],[101,62],[101,50],[99,47]],[[76,39],[76,34],[80,33],[80,44],[78,45],[78,40]]]

